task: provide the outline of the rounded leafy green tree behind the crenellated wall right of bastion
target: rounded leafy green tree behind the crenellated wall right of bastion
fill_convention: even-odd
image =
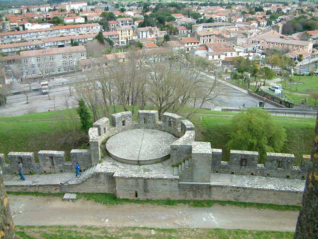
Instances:
[[[286,141],[286,130],[267,112],[249,108],[232,119],[229,149],[257,151],[260,162],[266,152],[279,151]]]

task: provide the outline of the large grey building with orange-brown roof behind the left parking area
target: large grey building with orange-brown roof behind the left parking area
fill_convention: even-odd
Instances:
[[[78,61],[84,59],[86,59],[84,46],[20,52],[21,70],[24,77],[74,72],[78,69]]]

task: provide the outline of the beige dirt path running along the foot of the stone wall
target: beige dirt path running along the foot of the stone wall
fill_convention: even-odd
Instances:
[[[295,231],[296,211],[258,210],[233,206],[191,208],[187,205],[102,205],[79,199],[9,195],[15,225],[103,226],[149,228],[222,228]]]

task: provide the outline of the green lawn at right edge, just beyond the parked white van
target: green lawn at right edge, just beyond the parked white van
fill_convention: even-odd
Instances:
[[[293,76],[293,82],[299,82],[299,76]],[[282,86],[285,90],[309,94],[311,90],[318,91],[318,76],[301,76],[300,82],[303,84],[289,84],[288,81],[283,81]],[[296,91],[297,89],[297,91]]]

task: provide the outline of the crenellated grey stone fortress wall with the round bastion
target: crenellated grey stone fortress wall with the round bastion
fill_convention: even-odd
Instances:
[[[0,154],[0,166],[7,174],[17,173],[18,162],[23,163],[26,174],[71,172],[76,162],[81,169],[90,172],[89,178],[73,184],[42,188],[9,186],[8,190],[105,192],[115,194],[118,198],[210,199],[300,205],[302,191],[212,185],[211,173],[305,179],[311,165],[310,156],[304,155],[301,166],[297,167],[293,165],[293,154],[267,153],[265,163],[258,164],[258,152],[231,150],[230,161],[225,162],[221,160],[222,149],[212,148],[209,142],[195,141],[195,128],[189,120],[164,113],[162,121],[159,121],[157,111],[139,111],[138,116],[139,120],[133,121],[131,112],[122,112],[113,114],[111,122],[107,118],[94,122],[88,131],[89,150],[73,149],[72,162],[66,162],[64,152],[60,151],[39,151],[39,163],[35,163],[34,154],[30,152],[8,153],[9,164],[5,164],[4,155]],[[158,129],[178,137],[170,145],[171,176],[149,178],[94,171],[101,160],[101,146],[109,137],[138,128]]]

